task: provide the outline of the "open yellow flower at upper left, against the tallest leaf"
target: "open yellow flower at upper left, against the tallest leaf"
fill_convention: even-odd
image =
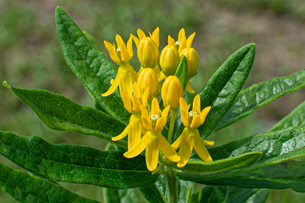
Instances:
[[[102,96],[108,96],[112,94],[116,90],[117,86],[119,86],[120,92],[126,91],[127,94],[131,96],[132,82],[136,82],[138,79],[137,72],[135,72],[131,65],[129,65],[129,61],[133,56],[132,37],[129,37],[129,40],[127,41],[127,47],[118,34],[116,36],[116,41],[118,47],[117,49],[115,48],[114,43],[112,45],[109,42],[104,41],[111,59],[120,65],[120,67],[118,68],[116,78],[110,81],[110,88],[105,93],[103,93]]]

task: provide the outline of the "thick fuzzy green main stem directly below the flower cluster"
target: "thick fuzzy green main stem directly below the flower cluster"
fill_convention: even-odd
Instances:
[[[165,167],[167,178],[168,203],[177,203],[177,177],[170,166]]]

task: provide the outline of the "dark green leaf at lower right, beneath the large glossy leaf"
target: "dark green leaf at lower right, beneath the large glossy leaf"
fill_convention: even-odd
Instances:
[[[287,189],[305,192],[305,162],[287,161],[234,177],[200,181],[206,185]]]

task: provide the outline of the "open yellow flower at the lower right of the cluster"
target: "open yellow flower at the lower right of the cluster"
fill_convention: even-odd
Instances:
[[[206,107],[200,111],[200,97],[199,94],[197,94],[193,102],[192,111],[188,112],[188,108],[189,106],[186,101],[183,98],[180,98],[181,122],[185,128],[180,137],[172,144],[172,147],[175,150],[180,147],[179,156],[181,157],[181,160],[177,163],[178,167],[183,167],[188,163],[193,147],[203,161],[213,161],[209,152],[206,150],[205,145],[212,146],[214,145],[214,141],[203,140],[197,130],[197,127],[203,124],[211,107]]]

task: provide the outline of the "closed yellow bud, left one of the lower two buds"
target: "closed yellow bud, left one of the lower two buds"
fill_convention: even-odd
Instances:
[[[151,68],[144,68],[138,76],[138,85],[141,93],[148,89],[148,100],[159,94],[159,82],[156,73]]]

